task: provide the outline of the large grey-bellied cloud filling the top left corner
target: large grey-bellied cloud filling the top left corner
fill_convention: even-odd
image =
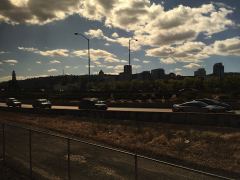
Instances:
[[[79,9],[76,0],[1,0],[0,21],[8,24],[44,25],[63,20]]]

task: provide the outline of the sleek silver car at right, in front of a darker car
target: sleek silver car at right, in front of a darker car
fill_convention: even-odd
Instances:
[[[222,106],[208,105],[201,101],[190,101],[182,104],[174,104],[172,108],[173,112],[212,112],[223,113],[227,109]]]

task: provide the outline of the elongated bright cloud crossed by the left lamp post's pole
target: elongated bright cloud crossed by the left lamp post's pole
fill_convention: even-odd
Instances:
[[[76,50],[76,51],[73,51],[72,54],[74,56],[86,58],[87,50]],[[98,61],[100,59],[103,59],[104,62],[109,62],[109,63],[120,62],[120,60],[117,58],[116,55],[114,55],[110,52],[107,52],[105,50],[90,49],[90,54],[91,54],[91,60],[93,60],[93,61]]]

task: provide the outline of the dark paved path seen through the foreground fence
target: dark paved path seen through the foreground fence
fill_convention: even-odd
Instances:
[[[29,132],[5,127],[6,162],[29,174]],[[36,179],[67,179],[67,141],[32,132],[32,168]],[[0,133],[0,147],[2,138]],[[135,179],[134,156],[70,141],[72,180]],[[39,175],[41,177],[39,177]],[[181,168],[138,158],[139,180],[218,179]]]

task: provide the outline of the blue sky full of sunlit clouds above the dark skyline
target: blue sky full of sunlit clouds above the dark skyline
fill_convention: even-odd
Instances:
[[[0,0],[0,81],[164,68],[240,72],[238,0]],[[135,39],[137,41],[135,41]]]

